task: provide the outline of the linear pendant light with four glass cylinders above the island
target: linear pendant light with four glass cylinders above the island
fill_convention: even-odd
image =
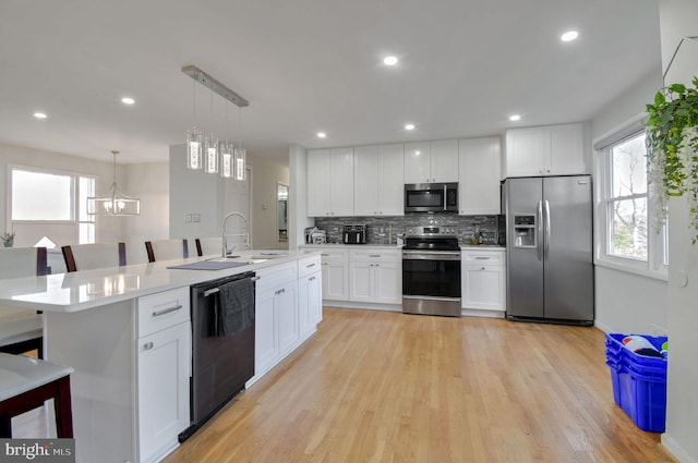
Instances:
[[[220,176],[244,181],[246,172],[246,151],[242,149],[242,108],[250,106],[248,100],[226,87],[224,84],[194,65],[182,68],[182,72],[194,82],[194,125],[186,131],[186,168],[203,170],[206,173],[220,173]],[[196,126],[196,82],[210,90],[213,123],[213,94],[220,95],[239,108],[238,147],[229,141],[218,141],[213,131],[205,138]]]

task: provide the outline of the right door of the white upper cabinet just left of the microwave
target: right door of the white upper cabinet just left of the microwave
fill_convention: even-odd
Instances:
[[[402,144],[378,147],[377,182],[378,216],[404,216],[405,146]],[[354,209],[358,203],[354,204]]]

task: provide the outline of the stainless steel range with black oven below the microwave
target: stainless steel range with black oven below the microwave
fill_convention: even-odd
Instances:
[[[460,317],[456,227],[409,227],[402,246],[402,312]]]

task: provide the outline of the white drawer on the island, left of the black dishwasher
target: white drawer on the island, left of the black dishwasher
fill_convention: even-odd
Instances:
[[[139,297],[137,337],[173,327],[190,319],[189,287]]]

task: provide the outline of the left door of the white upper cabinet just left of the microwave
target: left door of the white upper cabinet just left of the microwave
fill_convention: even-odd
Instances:
[[[377,216],[380,214],[380,182],[382,167],[378,162],[377,146],[362,146],[353,151],[353,212],[356,216]],[[400,169],[400,176],[402,171]],[[400,185],[400,191],[401,191]],[[381,188],[382,191],[382,188]]]

